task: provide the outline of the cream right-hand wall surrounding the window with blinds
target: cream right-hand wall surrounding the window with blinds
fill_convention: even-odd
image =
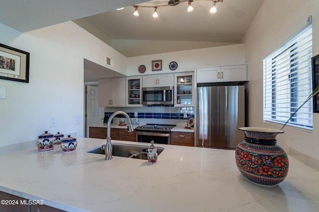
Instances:
[[[318,0],[265,0],[244,39],[246,62],[250,65],[249,126],[280,129],[263,123],[263,59],[306,25],[313,18],[313,56],[319,54]],[[288,127],[278,135],[278,144],[319,160],[319,114],[314,114],[313,133]]]

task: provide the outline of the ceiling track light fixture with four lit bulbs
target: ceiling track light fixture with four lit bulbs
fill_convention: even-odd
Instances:
[[[188,2],[187,12],[191,12],[191,11],[194,10],[194,7],[192,7],[192,5],[191,5],[191,3],[193,1],[197,1],[197,0],[169,0],[167,4],[155,5],[155,6],[132,5],[135,8],[135,11],[134,11],[133,15],[134,16],[139,16],[139,11],[138,11],[139,7],[149,7],[149,8],[155,8],[154,9],[154,13],[153,13],[153,17],[157,18],[157,17],[159,17],[159,14],[158,14],[158,11],[157,11],[157,9],[159,7],[162,7],[162,6],[176,6],[177,4],[179,4],[181,2]],[[215,13],[217,11],[216,3],[223,2],[223,0],[211,0],[211,1],[213,1],[213,6],[209,10],[209,12],[210,13]]]

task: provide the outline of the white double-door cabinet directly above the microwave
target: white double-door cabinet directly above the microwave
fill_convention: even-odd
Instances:
[[[173,86],[174,74],[159,74],[143,76],[143,87]]]

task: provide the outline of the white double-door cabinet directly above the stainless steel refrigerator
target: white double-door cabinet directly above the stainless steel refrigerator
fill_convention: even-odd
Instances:
[[[196,68],[197,83],[248,80],[248,65]]]

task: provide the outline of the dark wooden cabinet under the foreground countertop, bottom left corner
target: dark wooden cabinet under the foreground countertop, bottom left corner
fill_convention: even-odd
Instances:
[[[50,206],[39,205],[40,203],[45,204],[42,201],[27,200],[1,191],[0,199],[6,201],[5,204],[7,203],[7,205],[0,205],[0,212],[65,212]],[[31,201],[30,204],[28,204],[29,201]]]

